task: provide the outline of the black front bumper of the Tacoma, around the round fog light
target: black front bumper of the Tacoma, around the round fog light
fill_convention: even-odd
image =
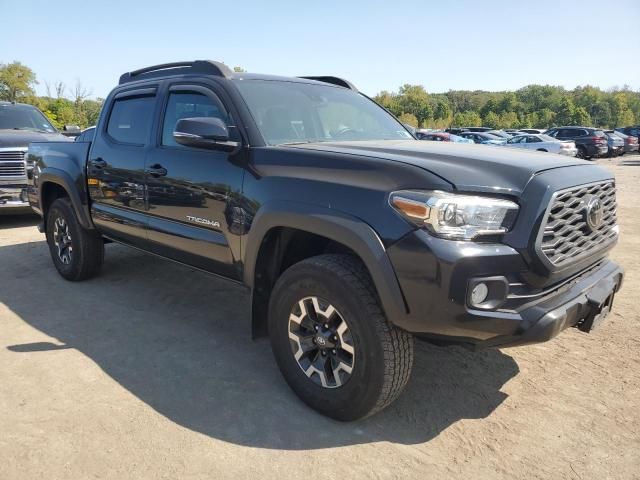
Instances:
[[[594,292],[615,293],[623,279],[622,269],[603,259],[554,285],[529,288],[520,277],[529,268],[510,246],[454,242],[424,231],[397,242],[388,254],[409,310],[393,323],[475,349],[547,341],[595,312]],[[495,310],[471,308],[469,280],[495,276],[507,279],[507,300]]]

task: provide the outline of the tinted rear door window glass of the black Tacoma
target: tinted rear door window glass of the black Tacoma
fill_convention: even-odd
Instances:
[[[109,115],[107,133],[116,142],[144,145],[149,138],[155,97],[116,100]]]

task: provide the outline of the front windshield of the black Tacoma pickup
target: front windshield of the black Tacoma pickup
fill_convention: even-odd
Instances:
[[[236,85],[269,145],[413,138],[384,109],[352,90],[274,80]]]

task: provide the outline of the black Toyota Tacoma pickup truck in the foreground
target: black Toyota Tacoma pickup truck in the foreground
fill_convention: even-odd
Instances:
[[[337,77],[144,68],[90,142],[28,154],[64,278],[97,274],[118,242],[246,285],[254,336],[340,420],[397,398],[414,337],[480,349],[589,331],[622,283],[608,171],[421,142]]]

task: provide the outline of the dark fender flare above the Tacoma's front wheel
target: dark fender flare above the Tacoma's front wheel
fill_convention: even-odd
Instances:
[[[356,217],[319,205],[273,201],[260,207],[243,248],[244,283],[252,291],[263,239],[270,230],[278,227],[320,235],[351,249],[369,271],[388,320],[395,323],[396,319],[407,315],[395,270],[378,234]]]

